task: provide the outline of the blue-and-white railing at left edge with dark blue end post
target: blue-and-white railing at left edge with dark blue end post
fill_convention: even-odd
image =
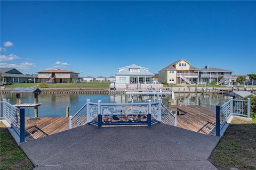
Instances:
[[[6,99],[3,103],[3,117],[11,125],[11,128],[19,136],[19,143],[25,142],[25,109],[17,108],[8,103]]]

